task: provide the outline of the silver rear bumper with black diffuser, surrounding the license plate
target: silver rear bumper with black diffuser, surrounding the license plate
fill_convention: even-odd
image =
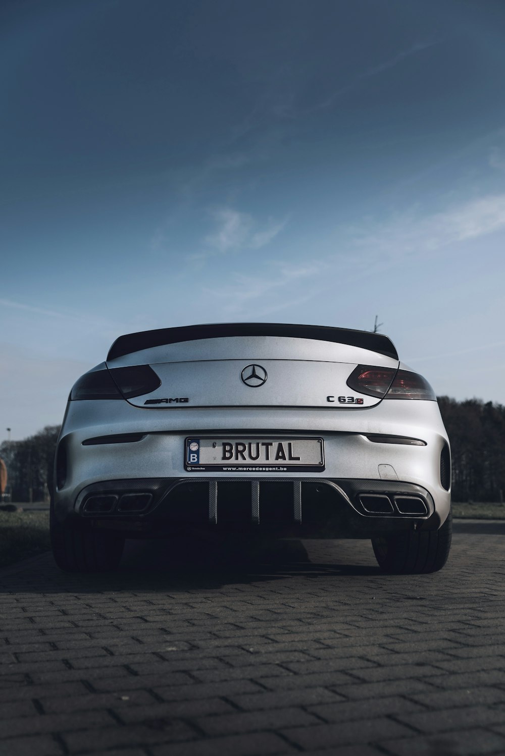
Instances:
[[[367,538],[414,525],[437,529],[450,511],[450,485],[445,482],[445,487],[441,480],[441,455],[444,450],[448,453],[448,439],[433,401],[383,401],[362,411],[247,407],[147,411],[107,400],[70,405],[55,469],[54,507],[60,520],[76,517],[100,527],[145,534],[154,534],[156,528],[175,532],[197,526]],[[282,478],[278,472],[247,472],[246,479],[240,472],[187,472],[184,439],[216,432],[288,441],[300,435],[322,438],[325,466],[314,473],[289,469]],[[410,436],[421,439],[422,445],[383,442],[377,435]],[[209,518],[211,489],[217,497],[214,519]],[[92,492],[116,496],[113,510],[85,513],[85,497]],[[135,492],[149,494],[147,508],[124,511],[121,496]],[[393,497],[389,513],[364,511],[357,498],[361,494]],[[394,496],[417,494],[426,503],[426,513],[402,514]],[[132,499],[126,503],[130,506]],[[380,500],[369,504],[372,509],[380,507]],[[386,500],[383,504],[388,506]],[[296,516],[299,506],[301,519]],[[275,515],[276,507],[281,515]]]

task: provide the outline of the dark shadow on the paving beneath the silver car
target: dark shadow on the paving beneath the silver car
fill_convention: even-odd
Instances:
[[[287,578],[322,579],[351,575],[372,577],[380,575],[375,564],[352,564],[349,541],[325,541],[324,553],[316,550],[311,559],[302,541],[277,539],[272,541],[126,541],[119,568],[115,572],[61,572],[52,554],[44,560],[44,581],[29,581],[27,565],[23,581],[29,590],[39,593],[72,593],[101,591],[163,591],[180,593],[187,590],[216,590],[234,584],[274,582]],[[326,559],[329,556],[329,559]],[[339,559],[340,557],[340,559]],[[359,561],[357,557],[357,561]],[[46,563],[47,562],[47,563]],[[39,572],[42,564],[33,562]],[[20,567],[21,569],[21,567]],[[0,580],[0,593],[15,590],[13,583],[19,573]]]

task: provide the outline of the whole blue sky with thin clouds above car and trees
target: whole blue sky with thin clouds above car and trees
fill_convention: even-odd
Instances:
[[[15,0],[0,59],[0,439],[204,322],[378,314],[505,403],[503,2]]]

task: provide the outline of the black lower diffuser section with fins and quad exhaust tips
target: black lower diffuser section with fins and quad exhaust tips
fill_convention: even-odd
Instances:
[[[437,530],[450,497],[435,509],[429,491],[408,482],[367,479],[117,479],[59,497],[58,519],[144,538],[195,530],[270,532],[299,538],[372,538]]]

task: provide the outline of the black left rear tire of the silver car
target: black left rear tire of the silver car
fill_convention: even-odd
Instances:
[[[108,572],[119,565],[125,539],[116,533],[92,530],[86,527],[89,524],[58,522],[51,502],[54,561],[65,572]]]

